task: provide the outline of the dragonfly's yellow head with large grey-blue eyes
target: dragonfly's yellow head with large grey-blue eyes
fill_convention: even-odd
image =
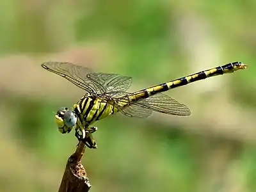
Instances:
[[[55,122],[61,133],[70,132],[76,125],[77,117],[73,111],[68,108],[60,108],[55,115]]]

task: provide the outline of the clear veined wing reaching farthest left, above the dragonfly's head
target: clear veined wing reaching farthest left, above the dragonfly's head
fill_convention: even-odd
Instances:
[[[88,74],[94,74],[93,70],[90,68],[74,65],[73,63],[54,61],[42,63],[41,66],[54,74],[64,77],[86,92],[97,92],[97,90],[100,89],[98,87],[100,85],[93,83],[93,81],[88,78]]]

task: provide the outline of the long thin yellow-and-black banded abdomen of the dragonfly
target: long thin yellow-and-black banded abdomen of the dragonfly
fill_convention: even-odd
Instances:
[[[244,65],[241,62],[228,63],[227,65],[223,65],[223,66],[216,67],[216,68],[211,68],[209,70],[203,70],[201,72],[198,72],[198,73],[190,75],[190,76],[181,77],[180,79],[176,79],[174,81],[169,81],[167,83],[162,83],[157,86],[152,86],[145,90],[134,92],[134,93],[132,93],[130,98],[133,101],[145,99],[147,97],[150,97],[150,95],[155,95],[156,93],[166,92],[166,91],[176,88],[178,86],[183,86],[183,85],[186,85],[189,83],[193,83],[195,81],[199,81],[199,80],[205,79],[207,77],[220,76],[223,74],[232,73],[232,72],[235,72],[236,70],[240,70],[240,69],[244,69],[244,68],[246,68],[246,65]]]

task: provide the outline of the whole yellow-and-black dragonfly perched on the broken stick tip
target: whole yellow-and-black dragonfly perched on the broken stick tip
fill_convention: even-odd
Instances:
[[[97,148],[97,143],[92,136],[92,133],[97,131],[97,127],[92,127],[92,124],[98,120],[115,113],[146,118],[152,114],[152,111],[189,116],[191,111],[186,105],[163,92],[247,67],[236,61],[130,93],[127,92],[132,83],[132,77],[129,76],[93,72],[90,68],[68,62],[49,61],[42,63],[41,66],[85,91],[72,110],[66,107],[58,109],[55,122],[62,134],[72,131],[73,128],[76,129],[77,140],[83,141],[88,148]]]

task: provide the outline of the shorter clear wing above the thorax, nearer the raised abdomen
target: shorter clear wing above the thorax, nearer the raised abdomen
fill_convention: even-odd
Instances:
[[[120,93],[129,89],[132,83],[132,77],[120,76],[119,74],[94,73],[90,74],[90,79],[95,84],[99,84],[101,94],[111,97],[120,96]]]

